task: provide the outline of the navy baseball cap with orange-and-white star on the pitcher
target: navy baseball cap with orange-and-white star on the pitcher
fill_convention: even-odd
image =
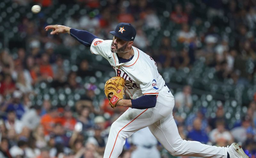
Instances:
[[[124,41],[133,41],[136,36],[135,28],[130,23],[124,22],[119,23],[115,31],[110,31],[109,33]]]

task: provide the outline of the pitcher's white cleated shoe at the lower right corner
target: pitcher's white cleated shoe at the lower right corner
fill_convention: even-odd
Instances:
[[[237,143],[232,143],[230,146],[228,146],[228,154],[230,158],[250,158],[244,153],[242,146]]]

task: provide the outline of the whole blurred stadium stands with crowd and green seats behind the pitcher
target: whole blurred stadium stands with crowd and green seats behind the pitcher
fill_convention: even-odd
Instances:
[[[236,141],[255,158],[254,0],[1,0],[0,157],[102,157],[111,123],[126,110],[113,110],[104,95],[116,74],[73,37],[44,27],[112,39],[119,22],[135,26],[134,46],[156,61],[175,97],[181,137]],[[126,140],[120,158],[143,153],[173,157],[147,128]]]

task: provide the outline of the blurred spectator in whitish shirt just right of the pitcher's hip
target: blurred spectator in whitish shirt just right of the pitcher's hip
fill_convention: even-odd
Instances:
[[[191,87],[189,85],[185,86],[182,92],[175,94],[175,106],[177,108],[192,107]]]

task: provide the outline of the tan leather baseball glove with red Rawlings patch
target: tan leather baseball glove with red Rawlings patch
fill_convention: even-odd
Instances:
[[[110,106],[115,108],[117,101],[124,98],[124,78],[119,76],[110,78],[105,84],[104,91]],[[110,94],[112,97],[109,97]]]

